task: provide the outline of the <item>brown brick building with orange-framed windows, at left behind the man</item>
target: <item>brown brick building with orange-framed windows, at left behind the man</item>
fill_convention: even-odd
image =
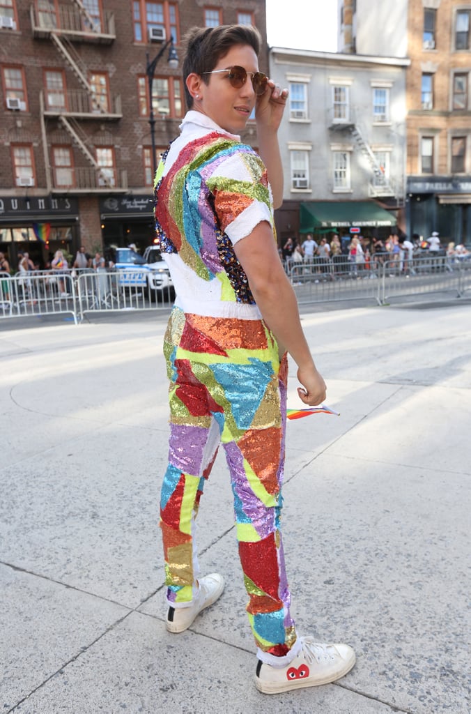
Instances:
[[[0,251],[11,266],[25,250],[43,267],[57,248],[151,243],[153,143],[158,157],[186,111],[174,52],[191,26],[236,22],[265,38],[265,0],[0,0]],[[249,123],[244,140],[255,136]]]

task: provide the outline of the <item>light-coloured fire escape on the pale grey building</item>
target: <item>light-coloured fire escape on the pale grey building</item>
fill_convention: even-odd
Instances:
[[[369,196],[371,198],[394,198],[397,206],[399,206],[404,200],[403,191],[400,188],[401,182],[392,181],[390,176],[385,174],[373,149],[371,149],[360,127],[351,116],[351,111],[348,114],[349,116],[345,118],[335,117],[331,119],[329,129],[331,131],[348,131],[353,139],[355,149],[368,161],[373,174],[373,180],[368,185]]]

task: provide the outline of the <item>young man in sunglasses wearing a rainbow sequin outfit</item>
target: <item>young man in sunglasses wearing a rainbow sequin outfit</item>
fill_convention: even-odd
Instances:
[[[171,433],[161,493],[168,630],[182,632],[223,592],[200,578],[194,518],[218,447],[231,473],[255,684],[277,693],[331,682],[348,645],[302,638],[290,616],[280,533],[288,351],[300,399],[325,383],[300,326],[273,235],[283,196],[277,131],[288,92],[258,71],[248,26],[193,29],[183,64],[190,111],[156,174],[156,226],[176,303],[164,341]],[[260,156],[240,143],[255,107]],[[260,158],[261,157],[261,158]],[[273,196],[272,196],[273,191]]]

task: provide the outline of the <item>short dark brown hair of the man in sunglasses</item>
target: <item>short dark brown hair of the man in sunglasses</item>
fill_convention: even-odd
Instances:
[[[205,84],[209,84],[210,76],[203,72],[211,72],[221,57],[228,54],[234,45],[249,45],[258,56],[262,38],[260,32],[252,25],[219,25],[218,27],[192,27],[183,38],[186,46],[183,59],[183,87],[185,89],[186,106],[191,109],[193,97],[186,86],[186,78],[193,72],[199,74]]]

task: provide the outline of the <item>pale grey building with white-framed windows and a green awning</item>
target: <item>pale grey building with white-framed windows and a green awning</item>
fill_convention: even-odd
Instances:
[[[283,206],[275,215],[280,241],[329,228],[383,235],[400,220],[407,64],[270,48],[270,76],[290,93],[278,132],[285,168]]]

